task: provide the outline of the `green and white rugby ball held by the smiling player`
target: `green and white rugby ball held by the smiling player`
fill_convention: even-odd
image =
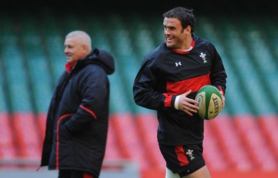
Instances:
[[[197,113],[204,120],[212,120],[222,111],[222,97],[215,86],[207,85],[200,88],[195,100],[199,107]]]

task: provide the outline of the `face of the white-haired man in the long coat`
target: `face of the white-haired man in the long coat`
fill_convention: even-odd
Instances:
[[[65,56],[67,63],[74,64],[77,60],[86,56],[85,45],[80,44],[76,38],[65,39]]]

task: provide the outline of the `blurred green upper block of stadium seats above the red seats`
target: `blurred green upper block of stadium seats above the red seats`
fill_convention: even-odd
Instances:
[[[197,18],[195,34],[215,44],[227,70],[224,113],[278,113],[278,28],[276,19],[265,19],[268,17],[259,22],[247,17]],[[149,17],[145,21],[136,14],[128,18],[114,14],[101,18],[88,15],[81,20],[78,15],[56,17],[48,12],[17,19],[3,16],[0,21],[0,81],[8,89],[3,100],[10,101],[8,108],[1,110],[47,111],[65,64],[64,36],[80,29],[92,35],[93,47],[111,51],[115,57],[116,72],[109,76],[111,112],[146,111],[134,104],[132,85],[142,58],[163,42],[161,19]],[[261,23],[265,28],[260,28]]]

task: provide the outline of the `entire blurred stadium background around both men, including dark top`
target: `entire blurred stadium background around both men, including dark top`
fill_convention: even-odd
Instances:
[[[164,40],[162,14],[193,8],[195,34],[227,70],[224,110],[205,121],[212,177],[278,177],[278,12],[275,1],[6,1],[0,7],[0,177],[57,177],[39,168],[63,43],[86,31],[110,51],[111,116],[101,177],[165,177],[156,113],[133,102],[141,61]]]

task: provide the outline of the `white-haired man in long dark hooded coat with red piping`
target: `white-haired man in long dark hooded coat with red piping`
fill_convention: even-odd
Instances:
[[[106,150],[110,83],[114,59],[92,51],[90,36],[72,31],[65,37],[65,72],[47,113],[41,166],[59,170],[58,178],[99,177]]]

